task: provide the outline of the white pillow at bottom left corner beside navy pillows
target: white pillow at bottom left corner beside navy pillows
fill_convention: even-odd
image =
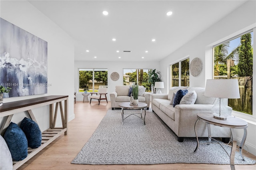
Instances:
[[[4,140],[0,135],[0,169],[1,170],[12,170],[12,155]]]

